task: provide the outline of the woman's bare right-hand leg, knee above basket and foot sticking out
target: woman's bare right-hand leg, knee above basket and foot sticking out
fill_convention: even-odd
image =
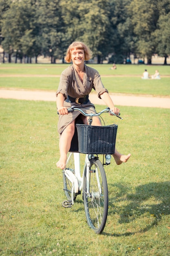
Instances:
[[[82,117],[84,124],[86,124],[87,122],[87,118],[86,117]],[[100,119],[98,117],[93,117],[93,122],[92,125],[94,126],[101,126],[101,122]],[[131,154],[128,155],[122,155],[121,153],[119,153],[117,151],[117,149],[115,148],[115,154],[113,154],[113,157],[115,159],[115,162],[117,165],[122,164],[122,163],[126,163],[128,161],[128,159],[130,158]]]

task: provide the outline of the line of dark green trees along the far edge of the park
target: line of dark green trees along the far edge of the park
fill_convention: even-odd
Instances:
[[[101,63],[123,63],[134,54],[170,55],[170,0],[0,0],[4,53],[31,62],[40,55],[64,60],[68,45],[82,40]]]

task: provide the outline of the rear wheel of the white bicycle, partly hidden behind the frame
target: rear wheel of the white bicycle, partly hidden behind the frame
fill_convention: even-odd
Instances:
[[[73,174],[75,174],[75,164],[74,164],[74,154],[71,153],[71,157],[68,160],[67,164],[66,164],[66,168],[64,170],[70,170]],[[63,171],[63,185],[64,185],[64,193],[66,195],[66,198],[68,199],[68,201],[71,201],[71,189],[72,189],[72,183],[70,182],[70,180],[68,180],[68,178],[66,177],[64,171]],[[77,193],[74,193],[73,195],[73,200],[75,201],[77,197]]]

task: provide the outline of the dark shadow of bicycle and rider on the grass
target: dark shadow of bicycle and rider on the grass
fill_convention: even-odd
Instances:
[[[146,232],[158,225],[162,216],[170,215],[170,182],[151,182],[140,185],[135,188],[135,193],[130,193],[130,186],[126,184],[117,183],[111,186],[111,194],[115,193],[115,197],[109,200],[108,215],[117,214],[119,224],[138,219],[142,222],[142,218],[145,223],[146,218],[150,219],[150,222],[138,231],[112,234],[112,236],[130,236]],[[103,234],[107,235],[105,232]]]

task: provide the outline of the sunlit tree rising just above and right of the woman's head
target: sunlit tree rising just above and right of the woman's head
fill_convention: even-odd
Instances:
[[[82,5],[80,7],[82,8]],[[84,12],[80,12],[84,33],[79,38],[88,44],[100,63],[110,52],[110,1],[88,1]]]

